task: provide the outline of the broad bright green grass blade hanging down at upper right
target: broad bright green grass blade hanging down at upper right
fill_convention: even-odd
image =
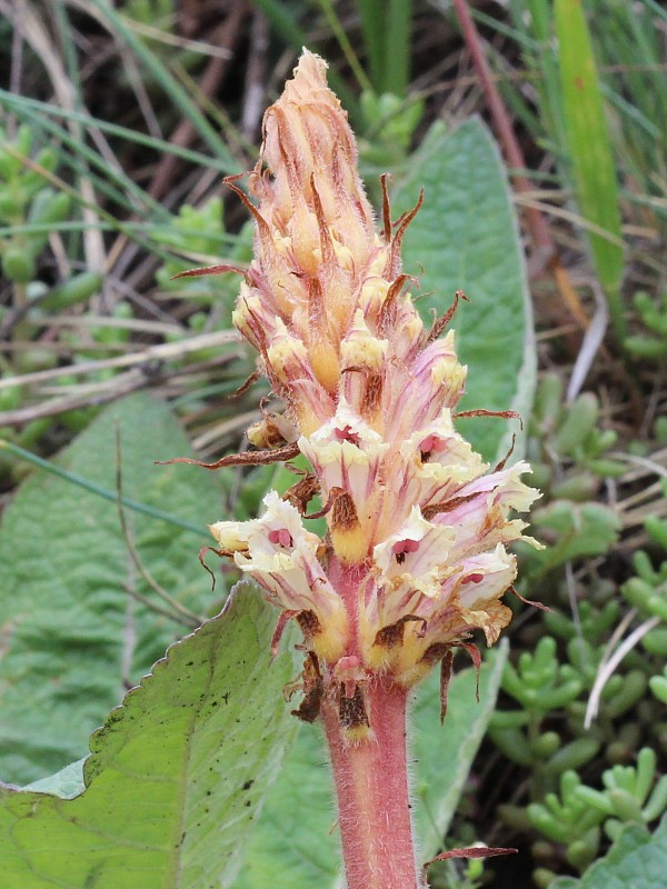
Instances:
[[[580,0],[556,0],[563,110],[579,212],[604,233],[589,231],[591,259],[617,337],[625,321],[620,302],[624,270],[616,167],[590,34]]]

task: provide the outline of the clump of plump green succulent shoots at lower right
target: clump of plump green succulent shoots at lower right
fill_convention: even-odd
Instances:
[[[646,525],[651,541],[663,547],[667,523],[653,517]],[[641,550],[633,562],[636,576],[620,588],[589,581],[576,617],[559,611],[544,615],[551,636],[542,637],[534,653],[524,651],[516,666],[505,670],[502,691],[519,709],[498,710],[491,719],[495,743],[529,775],[528,806],[502,806],[501,816],[521,831],[538,831],[556,843],[547,847],[546,856],[544,841],[535,843],[538,858],[551,867],[564,850],[571,867],[585,870],[599,855],[605,837],[615,840],[626,821],[650,823],[667,807],[667,778],[659,777],[656,753],[667,740],[661,711],[657,701],[645,699],[650,683],[658,700],[663,693],[667,700],[667,682],[656,676],[667,651],[667,562],[654,567]],[[634,645],[623,652],[623,667],[620,659],[611,667],[616,651],[607,640],[626,603],[636,609],[640,623],[633,631]],[[605,681],[596,692],[597,717],[587,728],[586,700],[600,676]],[[654,746],[636,753],[641,740]],[[600,752],[616,765],[604,772],[604,789],[597,790],[585,786],[575,770],[587,767],[590,772]],[[636,769],[625,765],[634,756]],[[555,873],[539,867],[534,876],[538,886],[550,886]]]

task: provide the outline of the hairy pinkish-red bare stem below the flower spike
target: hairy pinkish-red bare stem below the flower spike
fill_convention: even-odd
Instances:
[[[407,690],[382,678],[367,687],[371,736],[341,736],[329,696],[322,718],[338,797],[348,889],[417,889],[406,768]]]

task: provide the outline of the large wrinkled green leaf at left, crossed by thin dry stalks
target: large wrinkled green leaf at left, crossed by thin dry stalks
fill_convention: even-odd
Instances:
[[[135,396],[107,409],[59,465],[111,491],[116,428],[123,493],[201,527],[127,511],[137,550],[182,605],[219,608],[197,561],[206,522],[220,518],[216,477],[153,461],[189,452],[162,402]],[[113,502],[34,472],[0,526],[0,778],[40,778],[86,753],[90,732],[186,625],[157,615],[126,588],[161,601],[138,575]]]

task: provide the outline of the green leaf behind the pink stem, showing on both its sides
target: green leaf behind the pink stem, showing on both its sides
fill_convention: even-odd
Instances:
[[[411,713],[415,825],[425,859],[439,848],[462,786],[494,712],[507,657],[500,646],[481,668],[480,701],[475,670],[454,677],[440,726],[438,677],[419,689]],[[252,835],[235,889],[339,889],[340,856],[328,758],[319,728],[303,726],[286,757]]]

